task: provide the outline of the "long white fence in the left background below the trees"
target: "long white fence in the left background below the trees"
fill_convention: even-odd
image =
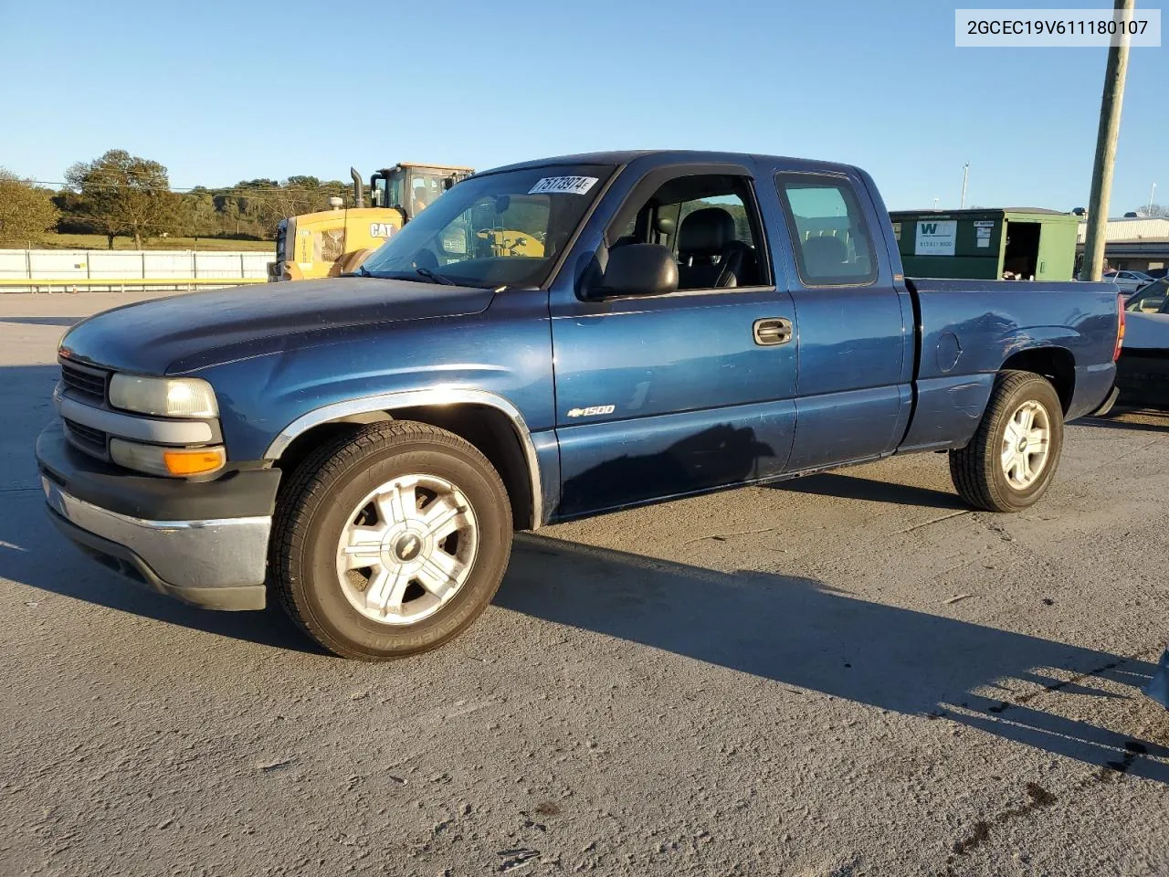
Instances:
[[[0,250],[0,291],[205,289],[263,283],[263,251]]]

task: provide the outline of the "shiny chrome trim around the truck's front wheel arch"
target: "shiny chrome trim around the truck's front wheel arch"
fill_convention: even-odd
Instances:
[[[540,461],[535,453],[535,444],[532,441],[532,433],[524,421],[524,415],[520,414],[519,408],[504,396],[483,389],[472,389],[469,387],[409,389],[348,399],[341,402],[332,402],[320,408],[313,408],[302,414],[279,431],[264,451],[264,460],[278,460],[298,436],[307,433],[313,427],[344,420],[355,414],[394,412],[399,408],[459,405],[479,405],[493,408],[504,414],[511,422],[512,430],[516,433],[516,437],[524,451],[524,461],[527,464],[532,499],[531,529],[535,530],[544,524],[544,491],[540,486]]]

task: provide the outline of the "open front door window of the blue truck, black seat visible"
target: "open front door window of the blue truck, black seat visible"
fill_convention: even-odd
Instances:
[[[610,249],[629,243],[670,248],[678,289],[726,289],[768,283],[759,213],[750,180],[733,174],[677,177],[649,196],[631,196],[609,230]]]

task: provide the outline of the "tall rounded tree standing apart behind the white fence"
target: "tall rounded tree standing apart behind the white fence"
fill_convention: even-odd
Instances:
[[[110,150],[94,161],[78,161],[65,171],[65,180],[81,193],[81,208],[101,228],[113,249],[113,239],[134,239],[172,232],[177,222],[177,198],[171,192],[166,168],[158,161]]]

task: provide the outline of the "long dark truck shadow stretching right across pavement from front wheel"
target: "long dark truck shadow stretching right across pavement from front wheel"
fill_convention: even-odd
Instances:
[[[518,538],[496,605],[784,686],[978,728],[1098,766],[1100,779],[1119,772],[1169,783],[1169,739],[1127,737],[1038,703],[1049,692],[1142,697],[1137,689],[1155,670],[1143,656],[873,603],[803,578],[727,574],[532,534]]]

